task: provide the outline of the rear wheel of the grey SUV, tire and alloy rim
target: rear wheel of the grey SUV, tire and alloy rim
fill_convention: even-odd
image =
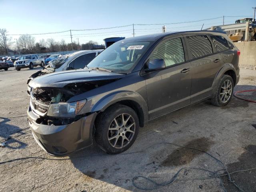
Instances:
[[[211,100],[212,104],[219,107],[227,105],[233,96],[233,92],[234,82],[232,77],[229,75],[222,76],[214,97]]]

